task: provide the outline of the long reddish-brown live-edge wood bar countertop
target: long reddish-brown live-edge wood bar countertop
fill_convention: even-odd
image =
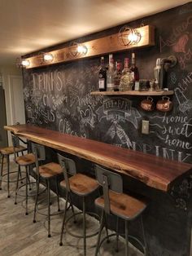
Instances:
[[[93,139],[83,139],[33,125],[4,126],[15,135],[50,148],[85,158],[119,173],[127,174],[151,188],[168,192],[171,184],[190,172],[192,165],[155,157],[143,152],[117,148]]]

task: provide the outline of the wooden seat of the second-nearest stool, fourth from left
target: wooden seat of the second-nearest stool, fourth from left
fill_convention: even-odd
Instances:
[[[85,174],[77,173],[68,180],[71,191],[79,196],[87,196],[98,188],[98,182]],[[60,185],[61,187],[66,188],[65,180],[62,180]]]

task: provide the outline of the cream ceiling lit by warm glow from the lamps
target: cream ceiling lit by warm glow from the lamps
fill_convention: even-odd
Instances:
[[[0,0],[0,65],[185,2],[189,1]]]

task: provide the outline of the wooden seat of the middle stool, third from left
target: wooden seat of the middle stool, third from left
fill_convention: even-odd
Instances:
[[[43,178],[53,178],[55,175],[62,174],[61,166],[55,162],[50,162],[46,165],[39,166],[39,174]]]

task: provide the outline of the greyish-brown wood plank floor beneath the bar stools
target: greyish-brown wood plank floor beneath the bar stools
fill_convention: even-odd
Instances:
[[[15,168],[11,163],[11,170]],[[11,186],[11,198],[7,198],[7,183],[2,183],[2,191],[0,191],[0,255],[1,256],[77,256],[83,255],[82,239],[70,236],[64,233],[63,246],[59,246],[59,232],[62,223],[62,214],[51,218],[51,237],[47,237],[46,216],[37,214],[37,223],[33,223],[33,206],[34,196],[30,196],[28,202],[28,215],[24,214],[24,196],[18,197],[18,204],[14,204],[14,188],[15,183]],[[61,199],[61,205],[64,201]],[[46,210],[44,202],[40,205],[41,211]],[[52,200],[53,209],[55,209],[55,200]],[[56,211],[56,209],[54,210]],[[71,214],[68,211],[68,216]],[[81,216],[81,215],[80,215]],[[81,218],[81,217],[80,217]],[[81,219],[76,224],[68,223],[68,229],[72,232],[81,234]],[[88,217],[88,233],[98,228],[98,221]],[[105,234],[104,234],[105,235]],[[97,236],[87,239],[87,256],[94,255]],[[120,241],[120,252],[115,253],[113,246],[115,243],[111,241],[109,244],[103,245],[100,255],[111,256],[124,255],[123,240]],[[130,248],[130,256],[141,256],[133,247]]]

